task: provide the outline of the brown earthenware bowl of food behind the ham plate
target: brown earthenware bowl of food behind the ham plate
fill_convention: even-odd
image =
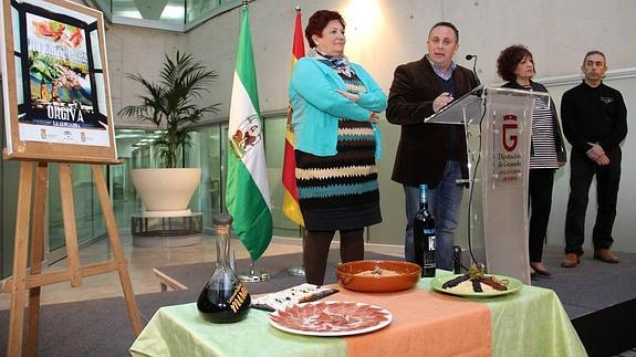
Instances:
[[[421,267],[402,261],[355,261],[340,264],[335,274],[344,288],[390,293],[415,286],[421,275]]]

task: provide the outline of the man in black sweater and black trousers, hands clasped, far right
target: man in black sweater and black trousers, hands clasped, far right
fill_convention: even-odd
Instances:
[[[618,263],[609,246],[614,242],[612,229],[621,181],[621,141],[627,135],[627,108],[621,92],[603,84],[607,71],[603,52],[587,52],[581,70],[585,80],[565,92],[561,102],[563,132],[572,144],[563,267],[574,267],[581,262],[587,196],[594,175],[598,206],[592,233],[594,259]]]

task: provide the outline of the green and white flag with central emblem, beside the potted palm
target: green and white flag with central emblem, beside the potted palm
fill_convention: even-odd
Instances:
[[[248,7],[242,11],[228,127],[226,204],[234,233],[256,261],[272,239],[272,212]]]

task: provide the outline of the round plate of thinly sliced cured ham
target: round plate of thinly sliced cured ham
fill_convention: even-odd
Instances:
[[[366,334],[388,326],[393,315],[385,308],[355,302],[296,304],[270,315],[278,329],[310,336]]]

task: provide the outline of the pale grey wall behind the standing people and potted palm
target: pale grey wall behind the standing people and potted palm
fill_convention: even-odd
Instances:
[[[453,22],[460,30],[457,62],[472,64],[463,56],[478,54],[478,72],[483,83],[497,84],[494,63],[509,44],[523,43],[534,54],[539,78],[576,75],[583,54],[590,49],[605,51],[609,69],[636,67],[636,48],[630,45],[636,33],[636,1],[615,0],[603,3],[591,0],[257,0],[250,3],[250,22],[259,73],[261,111],[283,111],[290,78],[291,40],[294,6],[303,9],[303,24],[319,9],[341,11],[347,21],[346,53],[362,63],[388,93],[397,64],[414,61],[426,52],[426,38],[437,21]],[[210,120],[227,118],[234,66],[240,11],[234,9],[183,34],[136,30],[112,25],[108,55],[115,111],[131,104],[135,87],[123,80],[125,72],[156,73],[164,52],[184,49],[205,61],[219,73],[210,97],[220,102],[221,112]],[[625,91],[628,112],[636,113],[636,80],[629,77],[608,83]],[[559,103],[564,88],[551,87]],[[122,123],[121,120],[118,123]],[[390,181],[399,128],[380,124],[384,130],[384,158],[378,162],[384,222],[372,229],[372,240],[400,243],[404,231],[402,187]],[[636,230],[636,203],[629,200],[636,187],[628,174],[636,171],[633,135],[624,145],[624,183],[615,233],[618,250],[636,252],[630,232]],[[569,169],[560,170],[554,191],[554,207],[549,241],[563,242],[563,219],[567,199]],[[594,204],[591,203],[591,211]],[[590,222],[593,222],[593,216]],[[465,230],[460,232],[465,234]],[[460,242],[463,238],[460,238]],[[587,239],[590,240],[590,239]]]

